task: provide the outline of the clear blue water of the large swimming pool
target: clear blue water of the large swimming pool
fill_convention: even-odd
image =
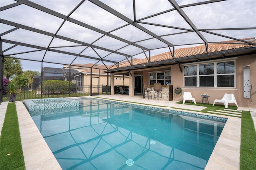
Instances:
[[[79,110],[33,114],[62,169],[204,169],[225,121],[103,100]]]

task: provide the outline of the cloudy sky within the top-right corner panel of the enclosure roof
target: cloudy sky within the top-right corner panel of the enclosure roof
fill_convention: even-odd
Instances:
[[[256,26],[256,1],[233,0],[183,9],[198,29]]]

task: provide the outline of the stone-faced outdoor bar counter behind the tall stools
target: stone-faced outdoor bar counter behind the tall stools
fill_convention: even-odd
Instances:
[[[162,85],[162,97],[163,100],[166,101],[172,101],[173,100],[173,86],[172,85]],[[153,85],[147,85],[148,90],[151,92],[152,99],[154,99],[154,86]]]

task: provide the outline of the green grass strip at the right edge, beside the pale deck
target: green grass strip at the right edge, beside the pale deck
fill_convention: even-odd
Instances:
[[[256,170],[256,131],[250,112],[242,111],[240,170]]]

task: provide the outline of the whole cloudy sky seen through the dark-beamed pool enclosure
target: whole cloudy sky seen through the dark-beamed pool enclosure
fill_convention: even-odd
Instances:
[[[22,45],[13,47],[13,43],[3,42],[3,51],[13,47],[10,50],[4,51],[5,55],[15,54],[13,56],[21,59],[34,60],[22,60],[24,71],[40,71],[41,62],[35,61],[41,60],[49,62],[43,63],[44,67],[58,68],[61,68],[63,64],[68,65],[70,63],[96,63],[98,61],[97,59],[100,58],[106,60],[104,61],[105,65],[112,65],[112,63],[108,61],[119,62],[126,59],[126,57],[120,53],[134,56],[135,58],[145,58],[145,54],[141,47],[144,48],[147,56],[149,56],[149,52],[145,49],[150,49],[150,55],[152,56],[169,51],[166,42],[172,44],[175,49],[204,44],[204,41],[198,34],[192,31],[192,27],[188,22],[186,22],[176,10],[171,10],[174,7],[168,0],[135,1],[135,18],[137,24],[146,30],[149,30],[150,34],[131,24],[134,21],[132,0],[102,1],[110,8],[114,9],[118,15],[120,14],[120,18],[110,14],[88,0],[83,3],[81,3],[80,0],[32,0],[31,2],[49,8],[50,10],[57,12],[58,15],[60,14],[60,16],[69,16],[76,21],[85,23],[86,26],[80,26],[79,24],[70,21],[66,21],[63,24],[64,20],[61,18],[36,10],[26,4],[21,4],[1,11],[0,18],[2,21],[0,23],[0,32],[2,39],[77,53],[89,56],[91,59],[76,57],[76,55],[56,53],[54,51],[38,51],[36,48],[25,47]],[[228,0],[184,7],[187,4],[197,2],[202,1],[176,0],[176,3],[183,7],[181,8],[182,12],[184,12],[189,20],[193,22],[196,29],[205,29],[209,32],[226,36],[225,38],[200,31],[200,34],[202,34],[208,42],[230,40],[228,37],[236,39],[256,37],[256,0]],[[1,0],[0,7],[2,8],[13,3],[16,3],[16,1]],[[78,4],[80,4],[80,6],[76,8]],[[74,10],[75,8],[76,10]],[[164,12],[167,10],[170,11]],[[153,16],[154,14],[159,15]],[[69,38],[72,41],[66,41],[62,38],[54,38],[52,40],[51,36],[31,32],[26,29],[17,29],[2,35],[15,28],[14,26],[8,25],[6,21],[43,30],[50,34]],[[225,30],[225,28],[251,29]],[[102,33],[104,33],[105,36]],[[111,34],[111,36],[106,36],[108,34]],[[152,35],[160,37],[161,40],[153,38]],[[114,37],[120,39],[116,40]],[[85,44],[81,45],[74,40],[94,45],[94,47],[88,47]],[[128,42],[122,42],[120,40],[126,40]],[[100,48],[95,48],[95,46]],[[171,49],[173,49],[173,47],[171,47]],[[23,53],[25,51],[29,52]],[[117,51],[118,53],[112,53],[111,51]],[[60,65],[52,64],[51,62],[60,63]],[[103,63],[100,61],[99,64]]]

